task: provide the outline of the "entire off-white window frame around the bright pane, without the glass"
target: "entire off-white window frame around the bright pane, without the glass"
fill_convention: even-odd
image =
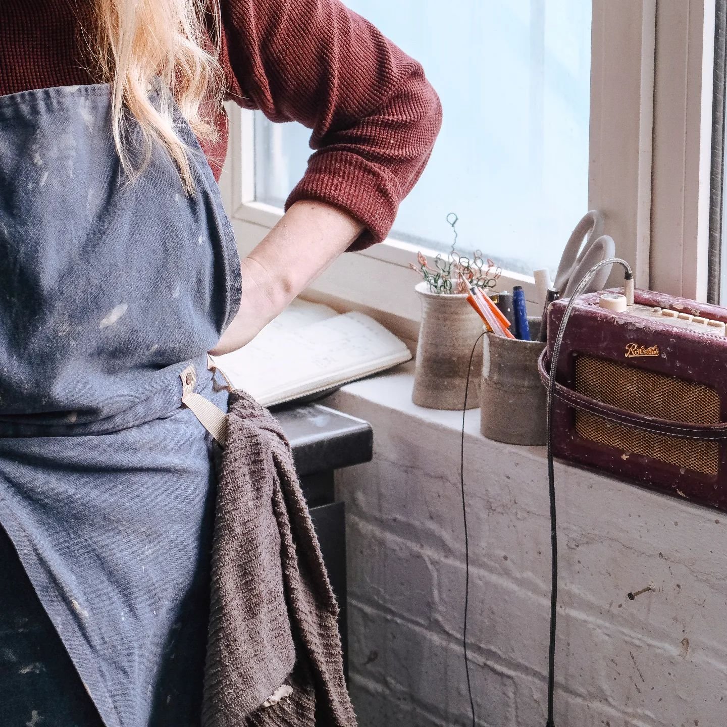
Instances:
[[[715,0],[593,0],[589,207],[603,213],[638,287],[699,300],[707,296],[714,17]],[[672,67],[683,73],[667,72]],[[220,185],[246,255],[282,210],[254,199],[252,112],[230,103],[228,116]],[[409,262],[417,249],[390,238],[344,254],[305,294],[416,323],[417,276]],[[612,284],[619,280],[614,270]],[[500,287],[514,285],[536,300],[533,278],[504,270]]]

